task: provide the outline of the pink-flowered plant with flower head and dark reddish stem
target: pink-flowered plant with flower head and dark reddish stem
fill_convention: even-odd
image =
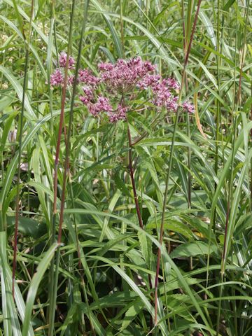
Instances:
[[[90,69],[79,69],[78,78],[74,80],[70,74],[74,69],[73,57],[68,58],[65,53],[59,55],[59,69],[56,69],[50,78],[50,85],[76,84],[80,86],[80,102],[87,107],[94,117],[102,117],[109,123],[120,120],[127,121],[127,113],[130,111],[147,111],[154,109],[158,113],[162,110],[178,112],[181,97],[181,87],[174,78],[162,78],[157,66],[149,61],[143,61],[141,57],[132,59],[118,59],[115,64],[110,62],[98,65],[97,76]],[[64,78],[68,64],[68,78]],[[180,93],[180,95],[178,95]],[[147,104],[148,103],[148,104]],[[181,108],[189,113],[194,112],[194,106],[190,102],[183,102]],[[178,114],[176,115],[178,116]],[[176,118],[177,120],[177,118]],[[134,193],[134,203],[137,211],[139,227],[144,229],[139,207],[137,188],[134,177],[134,165],[132,157],[132,137],[130,126],[127,125],[127,137],[129,145],[129,173]],[[57,185],[57,183],[55,183]],[[160,235],[162,237],[162,233]],[[161,238],[162,239],[162,238]],[[161,240],[162,244],[162,240]],[[157,323],[158,309],[158,274],[160,267],[160,249],[158,252],[157,274],[155,278],[155,324]],[[149,288],[152,288],[151,276],[148,276]]]

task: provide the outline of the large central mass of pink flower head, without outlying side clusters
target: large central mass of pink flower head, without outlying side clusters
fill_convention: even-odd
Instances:
[[[126,120],[127,111],[131,107],[132,97],[136,97],[139,92],[151,90],[153,104],[159,107],[165,107],[169,111],[178,109],[178,97],[172,94],[172,90],[179,90],[179,84],[173,78],[162,79],[156,73],[156,66],[148,61],[142,61],[141,57],[124,60],[118,59],[116,64],[101,63],[99,64],[99,76],[94,76],[89,70],[79,71],[79,81],[85,83],[87,87],[83,87],[85,95],[80,96],[89,109],[90,113],[97,116],[99,112],[107,112],[110,123],[116,123],[118,120]],[[115,109],[106,109],[101,104],[95,102],[95,92],[100,92],[105,87],[107,95],[112,97],[113,101],[120,101]],[[123,99],[122,99],[123,98]],[[109,103],[111,107],[112,104]],[[98,109],[100,111],[98,111]]]

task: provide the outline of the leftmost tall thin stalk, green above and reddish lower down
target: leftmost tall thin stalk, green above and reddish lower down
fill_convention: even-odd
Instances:
[[[23,124],[24,124],[24,113],[25,113],[25,90],[27,87],[27,72],[28,72],[28,60],[29,60],[29,38],[31,35],[31,21],[34,11],[34,0],[31,1],[31,13],[29,20],[29,33],[28,41],[25,36],[25,31],[22,31],[24,41],[25,41],[25,75],[23,83],[23,92],[22,92],[22,106],[19,119],[19,141],[18,141],[18,181],[17,181],[17,195],[15,199],[15,232],[14,232],[14,246],[13,246],[13,274],[12,274],[12,295],[13,299],[15,297],[15,270],[17,267],[17,252],[18,252],[18,218],[19,218],[19,203],[20,203],[20,175],[21,175],[21,156],[22,156],[22,133],[23,133]]]

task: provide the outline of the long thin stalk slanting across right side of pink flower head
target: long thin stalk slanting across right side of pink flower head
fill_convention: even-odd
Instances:
[[[160,238],[159,238],[160,245],[162,245],[163,236],[164,236],[165,212],[166,212],[165,210],[166,210],[166,207],[167,207],[167,195],[168,195],[168,188],[169,188],[169,179],[170,179],[170,175],[171,175],[171,172],[172,172],[172,162],[173,162],[173,157],[174,157],[174,144],[175,144],[175,138],[176,138],[176,129],[177,129],[177,126],[178,126],[178,123],[179,123],[179,105],[181,104],[182,90],[183,90],[183,85],[184,85],[185,78],[186,78],[186,66],[188,64],[190,49],[191,49],[191,46],[192,46],[192,43],[193,43],[193,36],[194,36],[194,33],[195,33],[197,17],[199,15],[201,2],[202,2],[202,0],[198,0],[197,10],[196,10],[196,13],[195,13],[195,20],[193,22],[193,29],[192,29],[192,33],[190,35],[190,42],[189,42],[189,45],[188,45],[188,50],[186,52],[185,62],[184,62],[184,66],[183,66],[183,73],[182,73],[182,79],[181,79],[181,89],[180,89],[180,92],[179,92],[179,100],[178,100],[178,109],[176,110],[174,131],[173,131],[173,134],[172,134],[172,145],[171,145],[169,167],[168,167],[168,172],[167,172],[167,178],[166,178],[166,181],[165,181],[165,195],[164,195],[164,202],[163,202],[163,207],[162,207],[162,218],[161,218]],[[168,246],[168,249],[169,249],[169,246]],[[154,318],[155,325],[158,324],[158,276],[159,276],[159,272],[160,272],[160,258],[161,258],[161,249],[158,248],[158,260],[157,260],[157,268],[156,268],[156,274],[155,274],[155,318]]]

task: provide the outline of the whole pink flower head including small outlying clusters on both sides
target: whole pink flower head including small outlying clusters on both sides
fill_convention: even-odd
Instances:
[[[69,57],[69,69],[73,69],[74,64],[73,57]],[[59,65],[66,66],[64,52],[59,56]],[[177,111],[176,90],[180,90],[180,86],[174,78],[162,78],[155,64],[134,57],[118,59],[115,64],[100,63],[98,68],[98,76],[94,76],[89,69],[80,69],[77,78],[78,83],[84,85],[83,94],[79,96],[80,102],[87,106],[92,116],[105,112],[110,123],[127,120],[127,112],[133,109],[134,101],[143,97],[147,97],[146,100],[158,108]],[[50,84],[59,85],[63,80],[62,72],[56,69]],[[73,76],[69,76],[68,83],[73,83]],[[188,113],[194,112],[190,102],[186,101],[182,106]]]

